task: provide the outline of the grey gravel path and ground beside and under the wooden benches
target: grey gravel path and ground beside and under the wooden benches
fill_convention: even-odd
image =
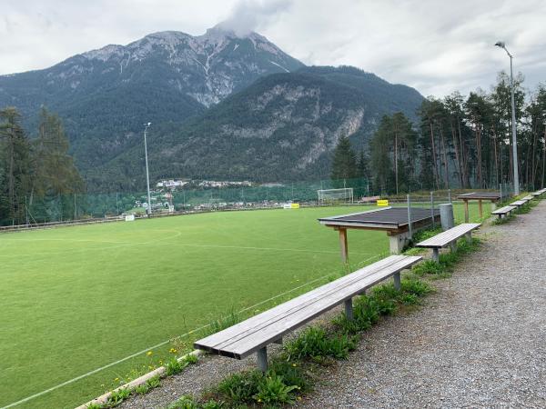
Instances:
[[[481,234],[437,294],[365,333],[298,407],[546,407],[546,201]],[[252,367],[254,356],[205,356],[119,407],[162,408]]]

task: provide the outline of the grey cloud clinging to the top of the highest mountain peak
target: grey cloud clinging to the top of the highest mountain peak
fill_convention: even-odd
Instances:
[[[219,26],[233,30],[237,35],[248,35],[275,23],[281,14],[288,12],[291,5],[291,0],[240,0]]]

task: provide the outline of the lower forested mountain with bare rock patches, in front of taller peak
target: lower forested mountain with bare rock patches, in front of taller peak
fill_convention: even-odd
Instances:
[[[354,67],[268,75],[184,124],[150,129],[151,178],[328,178],[341,135],[365,145],[382,115],[402,112],[416,119],[422,100],[413,88]],[[88,174],[90,186],[142,188],[143,156],[136,146],[116,157]]]

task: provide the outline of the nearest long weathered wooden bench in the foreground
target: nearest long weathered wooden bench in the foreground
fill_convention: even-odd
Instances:
[[[207,336],[197,341],[194,347],[236,359],[257,353],[258,368],[265,372],[268,369],[268,344],[282,343],[285,334],[342,303],[345,304],[347,318],[352,319],[352,297],[364,293],[372,285],[390,276],[393,276],[395,288],[399,290],[400,272],[421,259],[420,256],[391,255],[242,323]]]

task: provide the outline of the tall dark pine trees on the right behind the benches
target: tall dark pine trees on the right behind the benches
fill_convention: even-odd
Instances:
[[[517,166],[521,187],[531,190],[546,182],[546,85],[529,91],[522,83],[517,75]],[[466,97],[459,92],[430,96],[417,114],[417,123],[401,113],[383,116],[360,152],[364,163],[349,138],[342,137],[331,178],[369,178],[382,194],[513,184],[511,85],[504,72],[489,93],[478,89]]]

